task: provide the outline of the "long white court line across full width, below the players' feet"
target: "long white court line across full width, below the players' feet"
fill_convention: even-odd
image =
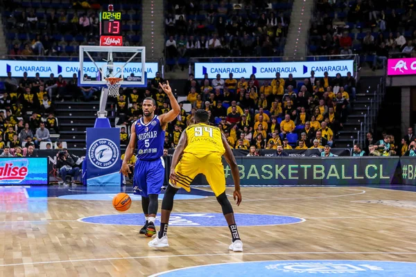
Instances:
[[[154,249],[154,251],[158,251]],[[82,260],[51,260],[48,262],[21,262],[16,264],[0,265],[0,267],[15,267],[19,265],[45,265],[56,264],[60,262],[96,262],[101,260],[135,260],[135,259],[155,259],[155,258],[182,258],[182,257],[214,257],[214,256],[257,256],[257,255],[328,255],[328,254],[377,254],[377,255],[416,255],[416,252],[259,252],[259,253],[204,253],[204,254],[184,254],[184,255],[163,255],[163,256],[136,256],[136,257],[121,257],[121,258],[97,258],[97,259],[82,259]]]

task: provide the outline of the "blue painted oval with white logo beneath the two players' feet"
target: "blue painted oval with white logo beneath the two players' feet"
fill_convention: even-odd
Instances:
[[[283,225],[304,222],[303,218],[284,215],[254,215],[250,213],[236,213],[234,215],[238,226],[266,226]],[[141,213],[125,213],[117,215],[97,215],[84,217],[79,221],[93,224],[114,224],[114,225],[143,225],[145,218]],[[156,217],[156,223],[160,223],[160,215]],[[191,227],[216,227],[227,226],[222,213],[172,213],[171,226]]]

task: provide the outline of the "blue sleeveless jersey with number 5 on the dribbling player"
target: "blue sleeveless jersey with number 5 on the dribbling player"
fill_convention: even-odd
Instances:
[[[154,161],[163,156],[165,131],[160,125],[159,116],[154,116],[144,124],[143,118],[135,123],[137,136],[137,158],[141,161]]]

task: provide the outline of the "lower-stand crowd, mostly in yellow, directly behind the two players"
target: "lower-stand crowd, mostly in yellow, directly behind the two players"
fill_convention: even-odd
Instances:
[[[142,115],[141,102],[145,97],[157,101],[159,114],[169,111],[167,98],[157,87],[163,79],[157,76],[144,93],[125,89],[117,99],[118,124],[127,127],[121,129],[123,144],[128,143],[129,126]],[[181,114],[168,125],[165,147],[177,145],[196,109],[208,111],[210,123],[220,127],[235,149],[277,149],[279,145],[285,150],[333,147],[349,112],[347,91],[355,89],[353,80],[350,74],[347,78],[330,78],[325,73],[324,78],[315,78],[313,71],[304,82],[297,82],[291,75],[284,80],[279,73],[275,79],[263,81],[255,75],[248,80],[236,80],[232,73],[225,80],[219,74],[214,80],[207,75],[203,80],[195,80],[191,74],[184,87],[187,101],[180,102]],[[184,103],[192,105],[189,114],[183,109]]]

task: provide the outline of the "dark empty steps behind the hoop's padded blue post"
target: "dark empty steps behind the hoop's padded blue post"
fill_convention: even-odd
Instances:
[[[114,127],[114,116],[111,116],[111,103],[107,103],[108,117]],[[94,127],[100,104],[93,102],[57,102],[56,117],[60,126],[60,140],[66,141],[68,148],[83,150],[86,145],[87,127]]]

